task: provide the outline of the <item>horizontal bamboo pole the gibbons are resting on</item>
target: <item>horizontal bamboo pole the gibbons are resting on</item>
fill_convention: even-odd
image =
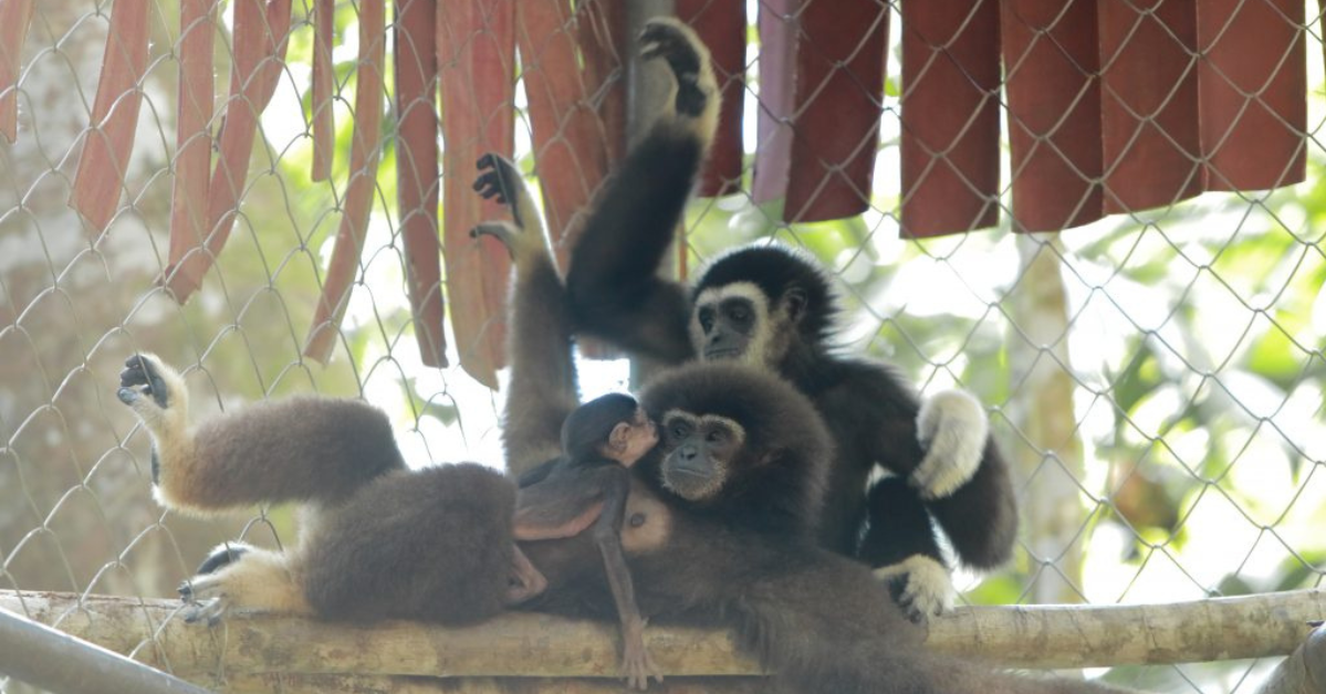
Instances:
[[[0,591],[25,615],[117,653],[194,673],[318,673],[361,677],[615,677],[611,625],[512,613],[468,628],[391,621],[346,626],[239,611],[215,629],[175,619],[179,603]],[[931,626],[930,645],[1012,668],[1205,662],[1293,653],[1326,591],[1162,605],[959,608]],[[721,630],[650,626],[650,652],[670,677],[754,675]]]

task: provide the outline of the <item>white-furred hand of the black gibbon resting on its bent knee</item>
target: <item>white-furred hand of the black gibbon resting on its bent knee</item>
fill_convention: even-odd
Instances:
[[[912,470],[910,483],[922,498],[948,497],[967,483],[981,465],[989,422],[985,409],[965,391],[941,391],[916,413],[916,440],[926,457]]]

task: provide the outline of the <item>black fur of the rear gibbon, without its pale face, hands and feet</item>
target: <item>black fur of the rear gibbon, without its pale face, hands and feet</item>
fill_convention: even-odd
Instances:
[[[866,481],[876,465],[906,478],[920,464],[924,452],[916,441],[918,399],[886,364],[831,351],[837,309],[818,264],[778,246],[745,246],[715,260],[690,293],[658,277],[707,146],[696,128],[658,126],[610,179],[566,275],[569,313],[577,330],[635,355],[680,364],[697,356],[687,326],[693,299],[704,289],[752,282],[770,306],[777,306],[789,289],[804,293],[798,339],[769,366],[814,401],[838,444],[821,523],[822,543],[859,556],[865,530],[875,547],[915,544],[907,530],[911,520],[894,523],[894,510],[883,503],[867,507]],[[912,494],[916,498],[907,502],[908,509],[920,499],[919,493]],[[963,562],[989,568],[1010,556],[1017,531],[1016,497],[1008,465],[993,444],[987,446],[980,471],[956,494],[928,509]],[[937,554],[935,558],[940,559]]]

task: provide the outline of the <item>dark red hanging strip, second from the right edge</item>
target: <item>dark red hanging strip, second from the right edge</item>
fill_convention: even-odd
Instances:
[[[1105,212],[1201,192],[1196,0],[1098,0]]]

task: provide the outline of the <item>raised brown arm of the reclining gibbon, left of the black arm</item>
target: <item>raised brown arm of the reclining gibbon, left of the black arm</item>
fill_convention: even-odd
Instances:
[[[514,262],[507,356],[511,383],[503,411],[507,469],[521,475],[561,452],[562,421],[575,409],[575,364],[562,279],[553,266],[538,211],[516,167],[496,154],[479,159],[475,189],[511,207],[517,224],[492,221],[475,236],[501,241]]]

